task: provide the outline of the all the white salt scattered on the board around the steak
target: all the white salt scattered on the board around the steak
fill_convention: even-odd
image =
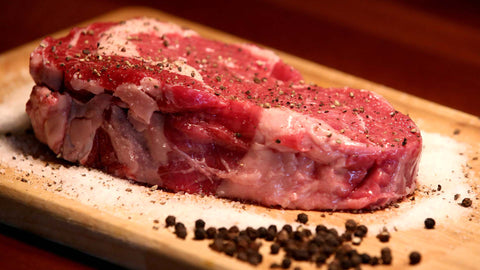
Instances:
[[[379,231],[383,226],[389,230],[423,227],[426,217],[435,218],[441,224],[442,219],[455,221],[469,213],[470,209],[459,207],[454,200],[455,194],[460,194],[462,198],[470,189],[462,167],[467,157],[460,155],[466,150],[465,145],[435,133],[424,132],[422,136],[424,148],[415,200],[406,199],[399,203],[398,208],[358,215],[359,221],[369,226],[371,231]],[[0,169],[10,167],[20,175],[36,175],[44,180],[42,186],[49,192],[134,222],[163,222],[170,214],[176,215],[187,226],[193,226],[198,218],[204,219],[207,226],[237,225],[240,228],[270,224],[282,226],[293,222],[285,220],[281,214],[272,217],[236,201],[150,190],[150,187],[97,170],[58,164],[58,160],[46,165],[42,156],[35,159],[29,155],[42,152],[42,147],[45,151],[46,147],[33,139],[33,135],[0,136]],[[44,154],[51,155],[48,152]],[[438,185],[441,185],[441,191],[433,192]],[[379,213],[382,213],[381,219],[378,218]],[[332,226],[328,220],[326,223]]]

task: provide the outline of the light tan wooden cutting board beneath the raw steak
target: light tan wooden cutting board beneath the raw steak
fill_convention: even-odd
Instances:
[[[189,27],[204,37],[224,42],[245,42],[146,8],[125,8],[90,22],[118,21],[137,16],[171,21]],[[62,31],[54,36],[65,33]],[[0,55],[0,107],[6,114],[2,115],[4,119],[0,122],[0,222],[136,269],[269,269],[272,262],[281,261],[281,255],[268,255],[268,243],[264,243],[261,248],[264,261],[257,267],[216,253],[208,248],[208,241],[192,240],[193,221],[204,218],[207,226],[216,227],[234,224],[240,227],[249,224],[254,227],[268,224],[281,226],[285,223],[297,226],[299,224],[295,223],[295,218],[300,211],[269,209],[212,197],[150,190],[149,187],[57,160],[30,133],[24,132],[28,120],[23,106],[33,85],[28,74],[28,57],[38,43],[35,41]],[[412,250],[418,250],[423,257],[422,262],[414,266],[416,269],[479,269],[480,161],[475,158],[480,151],[479,118],[282,52],[278,54],[300,70],[307,82],[312,81],[322,86],[369,89],[383,95],[399,111],[408,113],[426,135],[430,134],[427,138],[431,148],[443,147],[432,147],[432,138],[440,138],[440,142],[446,142],[447,148],[457,144],[462,146],[458,148],[460,150],[454,148],[451,151],[452,155],[462,158],[460,161],[465,161],[458,166],[462,179],[450,179],[441,171],[441,164],[438,165],[438,177],[449,178],[440,182],[448,183],[447,187],[451,189],[466,185],[466,193],[463,195],[473,199],[472,207],[463,208],[453,198],[442,197],[452,190],[444,188],[442,191],[429,191],[426,189],[432,188],[432,183],[427,183],[416,192],[417,206],[407,199],[400,202],[398,208],[391,207],[371,213],[308,211],[306,213],[310,220],[307,225],[312,227],[322,223],[339,228],[341,232],[342,224],[348,218],[368,225],[372,229],[358,249],[378,255],[380,248],[390,247],[394,256],[393,265],[385,268],[413,268],[408,266],[408,254]],[[454,134],[456,129],[460,132]],[[435,155],[425,158],[435,158]],[[458,160],[454,159],[455,162]],[[435,169],[435,164],[432,168]],[[458,174],[458,171],[452,173]],[[450,212],[444,213],[443,209],[434,208],[432,205],[435,203],[428,204],[429,200],[435,198],[447,201],[444,202],[448,206],[445,211],[448,208]],[[442,200],[438,202],[442,203]],[[419,215],[418,212],[423,211],[419,206],[422,202],[432,208],[424,209]],[[178,220],[187,225],[189,235],[186,240],[177,239],[171,230],[164,228],[164,219],[169,214],[176,215]],[[423,228],[422,215],[438,217],[435,230]],[[382,225],[394,227],[391,229],[392,238],[386,244],[375,239],[378,228]],[[394,232],[396,228],[398,231]],[[310,263],[294,263],[292,268],[294,266],[301,266],[302,269],[315,268]]]

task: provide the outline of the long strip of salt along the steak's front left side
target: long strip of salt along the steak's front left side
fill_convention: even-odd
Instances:
[[[150,187],[81,166],[65,167],[51,163],[46,166],[45,161],[23,156],[28,153],[27,149],[35,147],[31,143],[39,144],[36,141],[28,143],[24,137],[0,137],[0,166],[13,168],[19,175],[32,173],[48,179],[43,184],[46,190],[121,218],[151,223],[175,214],[187,225],[193,225],[198,218],[203,218],[208,226],[247,227],[285,223],[262,213],[244,211],[243,204],[239,202],[162,190],[152,192]]]

